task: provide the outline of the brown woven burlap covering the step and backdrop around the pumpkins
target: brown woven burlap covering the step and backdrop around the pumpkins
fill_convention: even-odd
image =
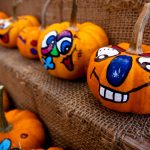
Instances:
[[[26,0],[19,14],[40,16],[44,0]],[[115,44],[128,41],[144,2],[149,0],[80,0],[78,19],[101,25]],[[0,1],[10,14],[11,0]],[[53,1],[49,23],[67,20],[71,0],[64,1],[63,15]],[[62,5],[61,5],[62,6]],[[62,13],[61,13],[62,14]],[[150,24],[144,43],[150,42]],[[93,97],[86,80],[64,81],[51,77],[40,62],[22,58],[16,50],[0,48],[0,82],[15,105],[36,112],[47,127],[53,145],[69,150],[150,149],[150,116],[108,110]]]

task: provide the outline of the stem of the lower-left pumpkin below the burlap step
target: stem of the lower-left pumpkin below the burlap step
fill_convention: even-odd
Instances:
[[[4,86],[0,85],[0,132],[8,132],[12,129],[12,125],[7,122],[5,117],[3,108],[3,90]]]

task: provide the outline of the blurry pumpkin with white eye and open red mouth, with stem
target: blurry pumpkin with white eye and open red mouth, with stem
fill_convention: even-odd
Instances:
[[[13,17],[0,20],[0,45],[5,47],[16,47],[19,32],[27,27],[39,25],[38,20],[33,16],[16,16],[16,7],[13,6]]]

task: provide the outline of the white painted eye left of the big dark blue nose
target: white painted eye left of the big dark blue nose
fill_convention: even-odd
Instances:
[[[103,47],[98,50],[95,61],[99,62],[99,61],[105,60],[108,57],[118,55],[119,53],[120,52],[114,48]]]

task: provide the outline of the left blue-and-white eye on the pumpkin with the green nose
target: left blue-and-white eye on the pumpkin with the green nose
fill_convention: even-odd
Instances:
[[[42,48],[48,47],[50,44],[54,44],[56,41],[57,37],[57,32],[56,31],[51,31],[49,32],[45,37],[42,42]]]

